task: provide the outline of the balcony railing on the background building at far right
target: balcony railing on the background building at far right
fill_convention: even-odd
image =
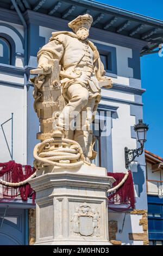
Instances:
[[[163,196],[163,181],[147,180],[147,194]]]

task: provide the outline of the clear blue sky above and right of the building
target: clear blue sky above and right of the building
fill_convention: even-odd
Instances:
[[[98,0],[121,9],[163,20],[163,0]],[[143,120],[149,124],[145,148],[163,157],[163,57],[157,53],[141,57]]]

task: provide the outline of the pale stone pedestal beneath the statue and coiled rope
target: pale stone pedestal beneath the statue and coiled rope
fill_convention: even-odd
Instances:
[[[106,169],[45,167],[30,185],[36,191],[35,245],[110,245]]]

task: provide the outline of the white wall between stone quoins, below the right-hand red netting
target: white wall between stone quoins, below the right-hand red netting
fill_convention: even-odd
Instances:
[[[129,240],[129,233],[143,233],[142,225],[139,225],[139,221],[142,215],[130,215],[126,214],[124,221],[124,227],[122,233],[117,231],[116,240],[122,241],[122,245],[143,245],[143,241]],[[122,229],[124,219],[124,213],[109,212],[109,221],[117,221],[118,230]]]

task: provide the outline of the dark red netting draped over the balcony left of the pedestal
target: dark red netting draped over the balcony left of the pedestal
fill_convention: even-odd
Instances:
[[[0,163],[0,178],[8,182],[20,182],[29,178],[35,172],[35,168],[29,165],[22,166],[15,161],[9,161],[7,163]],[[26,183],[19,187],[10,187],[0,184],[0,202],[5,202],[14,198],[21,198],[23,201],[27,201],[28,198],[35,199],[35,192],[30,187],[29,183]]]

